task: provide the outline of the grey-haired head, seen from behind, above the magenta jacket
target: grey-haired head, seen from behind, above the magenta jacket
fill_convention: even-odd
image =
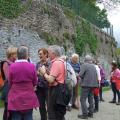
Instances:
[[[26,46],[20,46],[18,48],[18,51],[17,51],[17,56],[18,56],[18,59],[26,59],[28,60],[29,58],[29,50],[28,50],[28,47]]]

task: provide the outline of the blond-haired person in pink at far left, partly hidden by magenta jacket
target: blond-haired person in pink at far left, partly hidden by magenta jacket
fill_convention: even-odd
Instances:
[[[17,48],[16,47],[9,47],[6,51],[6,56],[7,56],[7,60],[5,60],[3,62],[2,65],[2,71],[4,74],[4,87],[2,89],[2,95],[1,95],[1,99],[4,101],[4,113],[3,113],[3,120],[11,120],[11,116],[9,114],[8,116],[8,91],[9,91],[9,67],[12,63],[15,62],[15,60],[17,59]]]

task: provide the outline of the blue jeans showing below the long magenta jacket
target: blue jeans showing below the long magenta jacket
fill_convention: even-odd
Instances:
[[[33,120],[32,117],[33,110],[30,110],[25,113],[21,113],[19,111],[12,111],[12,120]]]

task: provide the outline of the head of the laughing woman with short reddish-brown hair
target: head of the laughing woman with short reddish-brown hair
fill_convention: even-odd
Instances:
[[[48,58],[48,50],[46,48],[40,48],[38,50],[38,55],[41,61],[46,61]]]

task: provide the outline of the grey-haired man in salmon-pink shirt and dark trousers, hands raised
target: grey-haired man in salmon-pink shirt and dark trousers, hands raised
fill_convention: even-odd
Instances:
[[[47,74],[44,66],[39,68],[39,72],[49,83],[48,93],[48,120],[65,120],[66,103],[63,100],[62,92],[67,91],[65,87],[65,65],[60,59],[61,48],[52,45],[48,48],[48,56],[51,60],[50,74]],[[58,100],[58,98],[60,98]],[[69,103],[69,101],[67,101]]]

